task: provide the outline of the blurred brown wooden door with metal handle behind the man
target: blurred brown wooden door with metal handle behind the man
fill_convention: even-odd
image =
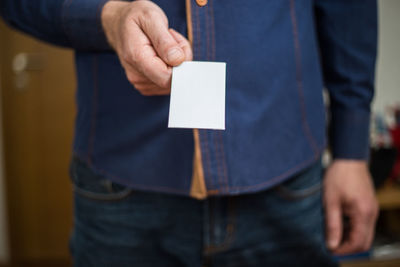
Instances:
[[[61,266],[69,262],[72,227],[73,53],[0,23],[11,259],[16,266]]]

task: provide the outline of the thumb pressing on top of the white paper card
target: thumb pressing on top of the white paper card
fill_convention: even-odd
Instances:
[[[149,37],[155,51],[165,63],[177,66],[185,60],[184,51],[168,31],[168,23],[160,13],[149,12],[139,21],[141,29]]]

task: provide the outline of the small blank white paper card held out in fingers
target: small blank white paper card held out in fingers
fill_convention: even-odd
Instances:
[[[184,62],[172,70],[169,128],[225,130],[223,62]]]

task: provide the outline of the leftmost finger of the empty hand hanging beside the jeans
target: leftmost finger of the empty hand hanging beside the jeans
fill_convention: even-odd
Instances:
[[[338,199],[329,199],[325,202],[325,216],[326,246],[330,250],[335,250],[343,235],[342,209]]]

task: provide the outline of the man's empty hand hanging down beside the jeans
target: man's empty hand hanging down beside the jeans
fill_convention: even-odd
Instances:
[[[335,160],[324,180],[327,247],[337,255],[370,248],[378,205],[366,162]],[[343,220],[346,218],[348,220]]]

